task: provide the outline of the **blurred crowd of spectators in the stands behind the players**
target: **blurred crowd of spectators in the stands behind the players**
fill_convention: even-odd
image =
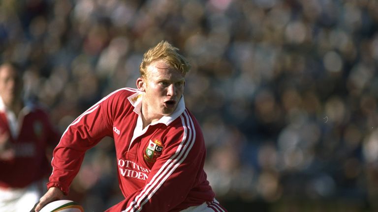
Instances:
[[[135,87],[160,40],[193,66],[186,105],[229,212],[378,211],[377,0],[0,0],[0,60],[61,132]],[[88,212],[123,198],[112,142],[71,186]]]

